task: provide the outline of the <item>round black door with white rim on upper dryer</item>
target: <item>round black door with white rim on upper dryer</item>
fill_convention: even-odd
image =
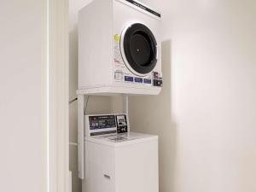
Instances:
[[[120,48],[126,67],[131,73],[145,76],[157,62],[157,43],[148,26],[134,23],[122,32]]]

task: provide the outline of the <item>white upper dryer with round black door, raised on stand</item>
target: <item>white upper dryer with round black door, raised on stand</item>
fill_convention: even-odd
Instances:
[[[80,94],[157,95],[160,14],[133,0],[94,0],[79,11]]]

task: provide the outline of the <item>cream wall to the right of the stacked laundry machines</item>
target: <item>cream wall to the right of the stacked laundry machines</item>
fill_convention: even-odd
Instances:
[[[256,191],[256,2],[144,2],[163,14],[164,88],[130,119],[160,136],[160,192]]]

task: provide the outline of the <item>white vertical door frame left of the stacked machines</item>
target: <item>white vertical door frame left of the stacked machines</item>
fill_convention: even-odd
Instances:
[[[69,192],[68,0],[42,2],[43,187]]]

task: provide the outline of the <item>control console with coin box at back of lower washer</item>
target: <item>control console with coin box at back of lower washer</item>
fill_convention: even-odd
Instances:
[[[84,116],[85,136],[107,135],[129,131],[128,116],[122,114],[91,114]]]

